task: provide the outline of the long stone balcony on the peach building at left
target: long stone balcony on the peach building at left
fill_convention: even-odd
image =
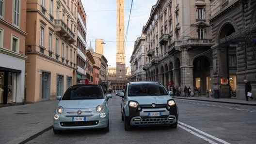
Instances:
[[[70,44],[75,43],[75,34],[68,28],[62,19],[55,19],[55,31],[59,32]]]

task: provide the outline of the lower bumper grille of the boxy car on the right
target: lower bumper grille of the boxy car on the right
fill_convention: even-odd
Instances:
[[[168,119],[168,117],[142,117],[140,124],[169,124],[172,123],[173,119]]]

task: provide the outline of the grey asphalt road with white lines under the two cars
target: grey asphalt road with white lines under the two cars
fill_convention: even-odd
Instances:
[[[256,144],[256,107],[177,99],[179,123],[124,130],[120,97],[109,100],[110,131],[46,131],[26,144]]]

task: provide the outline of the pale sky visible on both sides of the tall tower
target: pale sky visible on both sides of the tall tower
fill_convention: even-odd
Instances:
[[[103,55],[108,60],[109,67],[116,67],[116,1],[117,0],[81,0],[86,18],[86,42],[87,47],[92,43],[95,51],[96,39],[103,39]],[[150,11],[157,0],[125,0],[125,36],[126,66],[130,66],[130,57],[134,48],[134,42],[142,34],[142,28],[146,25]],[[132,9],[130,14],[130,8]],[[130,14],[130,21],[128,19]],[[127,31],[128,29],[128,31]],[[127,35],[126,35],[127,33]]]

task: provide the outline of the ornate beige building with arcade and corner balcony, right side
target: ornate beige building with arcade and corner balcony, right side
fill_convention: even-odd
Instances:
[[[146,80],[211,91],[210,0],[158,0],[144,26]]]

